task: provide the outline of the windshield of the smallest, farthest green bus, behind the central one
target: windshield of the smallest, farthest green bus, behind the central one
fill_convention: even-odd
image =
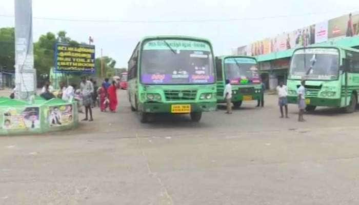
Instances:
[[[257,63],[253,58],[226,58],[224,68],[226,79],[229,79],[231,84],[260,83]]]

